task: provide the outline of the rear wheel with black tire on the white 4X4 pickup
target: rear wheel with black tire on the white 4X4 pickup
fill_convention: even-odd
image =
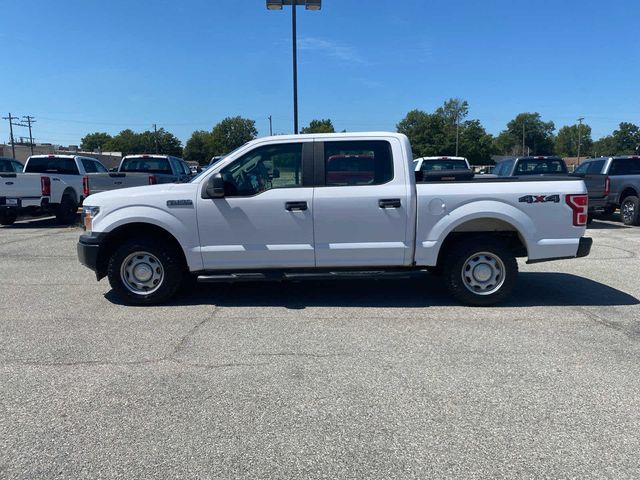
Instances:
[[[485,307],[511,295],[518,277],[518,263],[503,242],[471,237],[452,245],[445,253],[443,271],[451,295],[465,305]],[[474,272],[476,276],[472,275]],[[482,281],[487,274],[489,278]]]

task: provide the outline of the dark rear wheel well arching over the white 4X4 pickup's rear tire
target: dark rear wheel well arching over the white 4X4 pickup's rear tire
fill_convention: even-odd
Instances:
[[[511,224],[498,219],[480,219],[465,222],[456,227],[442,242],[438,253],[438,265],[455,245],[468,238],[492,238],[502,240],[516,257],[527,256],[527,246],[518,230]]]

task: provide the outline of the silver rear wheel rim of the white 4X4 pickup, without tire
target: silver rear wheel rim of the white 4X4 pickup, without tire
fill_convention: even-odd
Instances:
[[[504,281],[504,263],[491,252],[474,253],[462,265],[462,283],[476,295],[491,295]]]

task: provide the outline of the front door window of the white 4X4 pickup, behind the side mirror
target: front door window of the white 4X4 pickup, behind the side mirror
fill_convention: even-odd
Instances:
[[[266,145],[251,150],[220,173],[227,197],[247,197],[274,188],[302,186],[302,143]]]

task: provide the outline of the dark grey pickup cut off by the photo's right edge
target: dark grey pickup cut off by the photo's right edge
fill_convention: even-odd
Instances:
[[[591,213],[620,208],[625,225],[640,225],[640,156],[592,158],[573,174],[587,185]]]

